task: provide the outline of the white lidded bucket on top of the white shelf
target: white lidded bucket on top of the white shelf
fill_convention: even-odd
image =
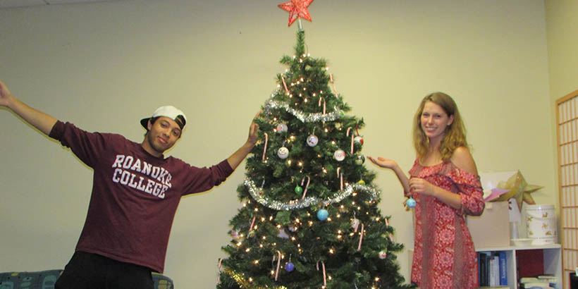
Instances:
[[[526,231],[532,245],[556,244],[556,211],[552,204],[526,206]]]

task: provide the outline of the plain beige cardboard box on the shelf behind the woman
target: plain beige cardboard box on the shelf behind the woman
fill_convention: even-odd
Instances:
[[[467,216],[466,221],[476,250],[510,246],[508,202],[486,202],[481,216]]]

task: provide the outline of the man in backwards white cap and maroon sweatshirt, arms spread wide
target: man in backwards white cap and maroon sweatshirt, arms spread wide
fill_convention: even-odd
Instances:
[[[197,168],[163,155],[186,124],[185,114],[173,106],[161,106],[140,121],[147,129],[140,144],[58,121],[20,102],[2,82],[0,106],[70,147],[94,170],[85,226],[56,289],[152,289],[151,272],[164,269],[180,197],[209,190],[230,176],[254,147],[259,129],[251,123],[240,149],[210,168]]]

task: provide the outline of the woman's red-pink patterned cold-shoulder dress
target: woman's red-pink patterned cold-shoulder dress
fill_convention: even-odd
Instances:
[[[421,289],[476,288],[476,251],[465,215],[478,216],[484,211],[479,176],[462,171],[450,161],[422,166],[416,159],[410,178],[423,178],[462,196],[460,210],[429,195],[413,196],[416,206],[412,282]]]

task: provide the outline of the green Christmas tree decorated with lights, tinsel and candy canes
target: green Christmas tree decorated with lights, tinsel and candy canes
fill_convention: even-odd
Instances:
[[[403,285],[390,216],[364,166],[363,119],[349,116],[297,32],[293,56],[255,120],[260,139],[238,187],[217,288],[412,288]]]

